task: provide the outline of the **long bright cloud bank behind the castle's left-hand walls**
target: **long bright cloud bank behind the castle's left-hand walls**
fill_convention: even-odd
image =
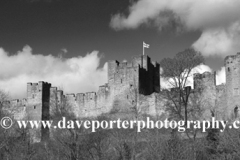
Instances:
[[[0,89],[13,98],[26,97],[27,82],[47,81],[65,93],[97,91],[107,82],[107,63],[99,68],[98,51],[63,59],[52,55],[34,55],[29,46],[15,55],[0,48]]]

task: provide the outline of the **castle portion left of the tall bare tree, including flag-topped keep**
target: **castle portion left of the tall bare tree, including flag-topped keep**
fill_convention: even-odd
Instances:
[[[160,65],[146,55],[133,57],[130,63],[109,61],[108,83],[97,92],[63,94],[50,83],[40,81],[27,83],[27,98],[12,100],[8,106],[14,108],[15,119],[49,120],[62,104],[75,117],[95,117],[115,111],[128,112],[129,107],[140,105],[143,95],[146,114],[156,114],[157,98],[160,92]],[[115,108],[113,108],[113,106]],[[38,138],[47,136],[39,130]]]

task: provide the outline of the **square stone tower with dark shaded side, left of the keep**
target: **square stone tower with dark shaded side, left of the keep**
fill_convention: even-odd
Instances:
[[[49,120],[51,84],[40,81],[27,84],[27,115],[28,120]],[[48,129],[30,129],[33,142],[39,142],[49,137]]]

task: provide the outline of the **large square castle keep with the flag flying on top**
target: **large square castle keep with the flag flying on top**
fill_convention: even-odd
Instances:
[[[150,95],[160,91],[160,65],[147,55],[134,56],[130,63],[109,61],[108,85],[114,101],[134,105],[139,101],[139,94]]]

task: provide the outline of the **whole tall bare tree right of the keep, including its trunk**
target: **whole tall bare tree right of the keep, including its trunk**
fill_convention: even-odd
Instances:
[[[168,100],[166,107],[171,115],[170,118],[184,120],[185,127],[187,127],[187,121],[193,118],[195,114],[199,114],[200,111],[199,107],[195,108],[195,105],[191,105],[193,102],[189,103],[194,92],[187,85],[189,78],[192,76],[193,69],[203,62],[204,58],[201,53],[189,48],[177,53],[173,58],[164,58],[160,63],[163,70],[161,76],[171,87],[171,90],[165,89],[163,91],[163,95]],[[191,101],[193,100],[197,101],[197,99],[192,98]],[[189,132],[187,128],[185,133],[189,139],[193,140],[193,159],[196,159],[196,132],[193,132],[193,138],[189,135],[192,132]]]

